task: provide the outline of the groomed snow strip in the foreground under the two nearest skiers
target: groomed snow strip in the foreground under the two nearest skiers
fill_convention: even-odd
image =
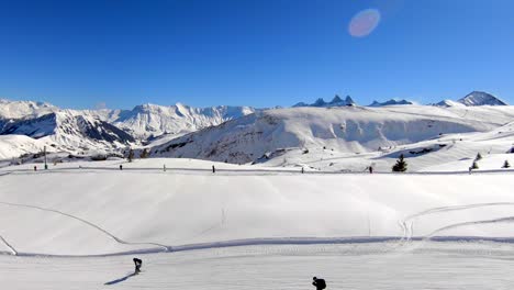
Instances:
[[[249,246],[138,256],[0,256],[5,289],[511,289],[510,244],[376,243]]]

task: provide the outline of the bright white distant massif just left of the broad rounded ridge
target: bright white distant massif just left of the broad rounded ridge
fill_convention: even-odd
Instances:
[[[190,133],[255,111],[250,107],[192,108],[181,103],[169,107],[143,104],[132,111],[120,112],[118,118],[111,120],[112,124],[134,136],[146,138],[163,134]]]

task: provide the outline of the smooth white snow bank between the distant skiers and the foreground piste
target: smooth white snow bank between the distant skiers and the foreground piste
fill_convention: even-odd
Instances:
[[[211,174],[211,165],[220,170]],[[157,158],[123,164],[123,170],[112,161],[81,164],[81,169],[60,166],[0,169],[0,235],[19,254],[428,236],[461,222],[512,216],[514,204],[512,174],[301,175]],[[457,207],[466,204],[476,207]],[[426,213],[440,207],[447,209]],[[506,225],[477,223],[438,235],[512,236]],[[0,241],[0,250],[10,249]]]

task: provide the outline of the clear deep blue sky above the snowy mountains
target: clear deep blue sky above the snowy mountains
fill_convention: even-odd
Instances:
[[[380,22],[354,37],[365,9]],[[1,0],[0,41],[0,98],[65,108],[514,104],[512,0]]]

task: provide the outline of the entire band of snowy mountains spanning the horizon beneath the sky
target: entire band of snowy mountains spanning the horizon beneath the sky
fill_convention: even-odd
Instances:
[[[154,156],[192,157],[231,163],[256,161],[281,148],[329,146],[339,152],[368,152],[435,137],[483,132],[512,121],[512,108],[485,92],[436,105],[406,100],[375,101],[357,107],[348,96],[290,109],[219,105],[192,108],[142,104],[132,110],[69,110],[33,101],[0,100],[0,135],[24,135],[26,148],[120,152],[145,145]],[[482,107],[485,105],[485,107]],[[490,105],[505,107],[505,110]],[[477,110],[472,109],[477,108]],[[500,107],[499,107],[500,108]],[[412,119],[411,114],[416,115]],[[37,142],[35,142],[37,141]],[[0,140],[12,148],[16,140]],[[14,154],[25,150],[11,152]]]

